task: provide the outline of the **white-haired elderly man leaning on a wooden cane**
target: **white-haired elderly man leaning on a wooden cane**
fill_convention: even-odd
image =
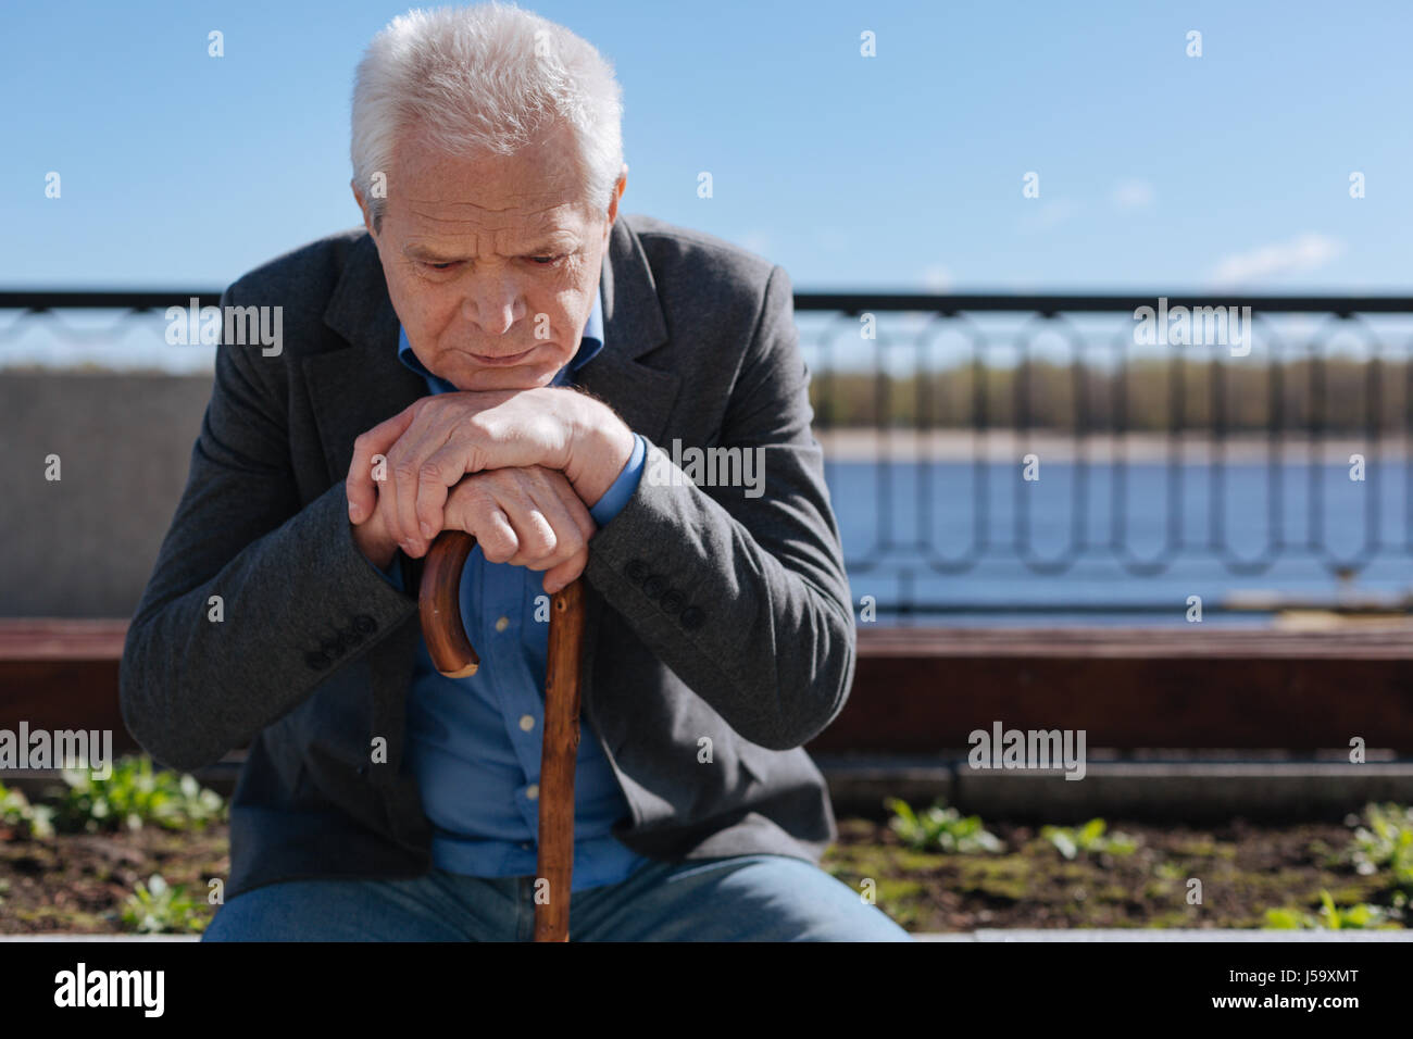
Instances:
[[[575,940],[906,940],[818,867],[801,745],[855,636],[784,271],[620,216],[619,88],[514,7],[410,13],[353,99],[365,229],[236,281],[123,656],[129,728],[192,769],[249,742],[212,940],[526,940],[547,595],[586,581]],[[750,452],[698,486],[685,448]],[[447,679],[415,589],[476,536]],[[213,609],[218,601],[220,611]]]

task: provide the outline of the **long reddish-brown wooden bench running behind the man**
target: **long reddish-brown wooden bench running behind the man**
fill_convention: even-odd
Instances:
[[[113,729],[126,621],[0,619],[0,729]],[[993,722],[1085,729],[1088,746],[1413,753],[1407,628],[859,630],[853,691],[810,744],[931,755]]]

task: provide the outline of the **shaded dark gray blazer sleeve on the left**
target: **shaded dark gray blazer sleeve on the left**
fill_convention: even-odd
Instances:
[[[239,288],[223,314],[244,305]],[[342,482],[301,506],[281,363],[216,348],[187,488],[127,630],[123,721],[172,768],[249,742],[417,608],[355,544]]]

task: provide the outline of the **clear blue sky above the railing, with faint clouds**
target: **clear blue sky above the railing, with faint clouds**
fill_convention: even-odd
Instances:
[[[625,211],[743,245],[800,290],[1413,280],[1406,1],[521,6],[615,64]],[[403,10],[11,6],[0,286],[220,288],[356,225],[352,75]]]

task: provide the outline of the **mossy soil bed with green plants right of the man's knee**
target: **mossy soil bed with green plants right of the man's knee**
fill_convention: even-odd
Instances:
[[[1106,820],[1039,828],[968,818],[985,851],[944,835],[964,818],[890,802],[886,823],[841,820],[824,868],[910,930],[976,927],[1399,927],[1406,811],[1369,806],[1345,826],[1211,830]],[[921,840],[931,818],[934,838]],[[1393,820],[1390,823],[1390,820]],[[1373,864],[1372,869],[1366,864]]]

